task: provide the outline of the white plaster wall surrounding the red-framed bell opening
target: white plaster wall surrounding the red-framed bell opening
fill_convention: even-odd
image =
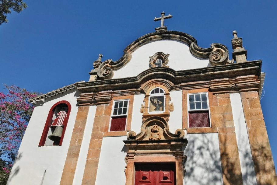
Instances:
[[[19,147],[19,158],[12,167],[7,185],[40,184],[46,170],[43,185],[59,184],[65,165],[78,107],[76,98],[79,91],[70,90],[47,98],[43,105],[37,104]],[[58,101],[66,100],[71,104],[63,143],[61,146],[38,147],[49,110]]]

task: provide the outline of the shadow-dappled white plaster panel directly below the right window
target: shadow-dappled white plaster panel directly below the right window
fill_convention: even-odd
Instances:
[[[223,184],[218,134],[187,134],[186,138],[184,184]]]

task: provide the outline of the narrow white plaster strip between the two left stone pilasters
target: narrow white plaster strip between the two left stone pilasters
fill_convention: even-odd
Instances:
[[[74,174],[73,185],[82,184],[95,113],[96,113],[96,106],[90,106],[87,121],[86,121],[83,141],[80,148],[78,162],[77,162],[77,166]]]

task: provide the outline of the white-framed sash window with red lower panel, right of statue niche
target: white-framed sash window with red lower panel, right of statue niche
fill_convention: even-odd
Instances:
[[[210,127],[208,93],[188,94],[189,127]]]

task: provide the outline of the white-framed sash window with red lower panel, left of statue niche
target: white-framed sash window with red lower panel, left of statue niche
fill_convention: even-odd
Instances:
[[[109,131],[124,131],[126,127],[129,99],[114,100]]]

